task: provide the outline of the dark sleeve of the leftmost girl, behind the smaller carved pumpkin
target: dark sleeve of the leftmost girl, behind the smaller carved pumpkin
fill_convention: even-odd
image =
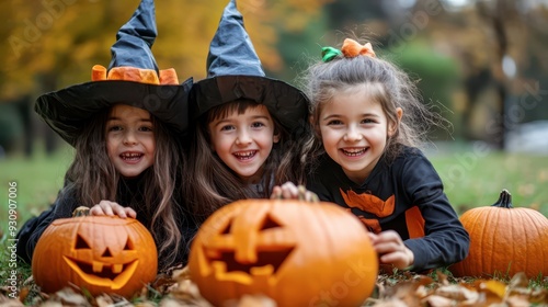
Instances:
[[[72,216],[77,202],[68,191],[59,192],[56,202],[39,216],[32,217],[23,224],[16,236],[16,254],[20,261],[32,264],[34,248],[46,228],[57,218]]]

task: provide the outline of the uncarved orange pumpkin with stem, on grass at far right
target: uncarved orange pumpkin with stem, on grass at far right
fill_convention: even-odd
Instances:
[[[465,212],[460,221],[470,235],[470,251],[449,266],[455,276],[525,272],[533,278],[548,273],[548,218],[532,208],[514,208],[509,191],[492,206]]]

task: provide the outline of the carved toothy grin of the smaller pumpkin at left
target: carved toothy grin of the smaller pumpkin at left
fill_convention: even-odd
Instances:
[[[110,264],[100,261],[93,263],[64,257],[67,264],[87,283],[118,289],[124,286],[137,269],[138,260],[123,264]]]

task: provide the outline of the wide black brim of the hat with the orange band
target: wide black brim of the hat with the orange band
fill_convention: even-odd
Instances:
[[[175,129],[189,125],[189,92],[192,79],[181,86],[156,86],[133,81],[95,81],[41,95],[34,110],[68,144],[75,145],[85,123],[114,104],[149,111]]]

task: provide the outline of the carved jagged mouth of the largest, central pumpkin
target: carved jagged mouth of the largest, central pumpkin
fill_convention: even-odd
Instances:
[[[209,262],[216,268],[216,273],[246,273],[256,275],[259,272],[275,275],[294,248],[283,248],[277,251],[259,251],[254,263],[240,263],[235,259],[233,251],[219,252],[218,258],[209,258]],[[221,264],[221,265],[219,265]],[[219,272],[222,271],[222,272]]]

